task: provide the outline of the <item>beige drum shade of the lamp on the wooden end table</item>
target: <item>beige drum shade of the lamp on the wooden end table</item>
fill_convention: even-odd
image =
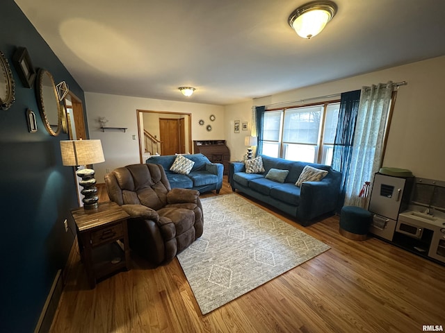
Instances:
[[[60,141],[63,165],[76,166],[105,162],[100,140]]]

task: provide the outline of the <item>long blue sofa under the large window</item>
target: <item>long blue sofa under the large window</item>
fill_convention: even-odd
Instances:
[[[293,216],[301,225],[309,225],[326,214],[333,214],[340,193],[341,173],[323,164],[293,162],[261,155],[264,173],[245,173],[243,162],[231,162],[229,182],[233,191],[241,191],[253,198]],[[317,182],[295,185],[306,165],[327,172]],[[284,182],[265,178],[270,169],[289,170]]]

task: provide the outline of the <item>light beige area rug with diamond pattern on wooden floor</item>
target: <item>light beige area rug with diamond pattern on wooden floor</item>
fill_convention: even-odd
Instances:
[[[177,257],[202,314],[330,248],[237,194],[201,201],[204,233]]]

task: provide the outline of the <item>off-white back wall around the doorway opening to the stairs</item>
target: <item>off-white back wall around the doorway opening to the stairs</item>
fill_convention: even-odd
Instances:
[[[129,96],[116,96],[86,92],[86,110],[90,139],[101,139],[105,162],[95,164],[95,178],[98,183],[104,182],[107,169],[112,171],[128,164],[139,163],[138,121],[136,110],[169,111],[191,113],[192,140],[224,139],[224,107],[199,103],[163,101],[158,99],[141,99]],[[215,121],[209,117],[214,114]],[[124,133],[120,130],[99,129],[97,119],[106,117],[106,127],[128,128]],[[205,121],[200,126],[198,120]],[[211,124],[211,132],[206,126]],[[133,139],[135,135],[136,139]]]

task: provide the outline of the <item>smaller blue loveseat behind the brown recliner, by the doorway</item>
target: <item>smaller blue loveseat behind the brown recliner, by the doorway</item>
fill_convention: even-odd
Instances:
[[[215,190],[220,193],[223,187],[223,171],[224,166],[220,163],[211,163],[207,157],[202,154],[184,155],[195,162],[193,168],[188,175],[181,175],[170,171],[173,162],[175,162],[177,155],[153,155],[147,158],[145,163],[161,164],[165,170],[170,186],[181,189],[196,189],[200,193]]]

